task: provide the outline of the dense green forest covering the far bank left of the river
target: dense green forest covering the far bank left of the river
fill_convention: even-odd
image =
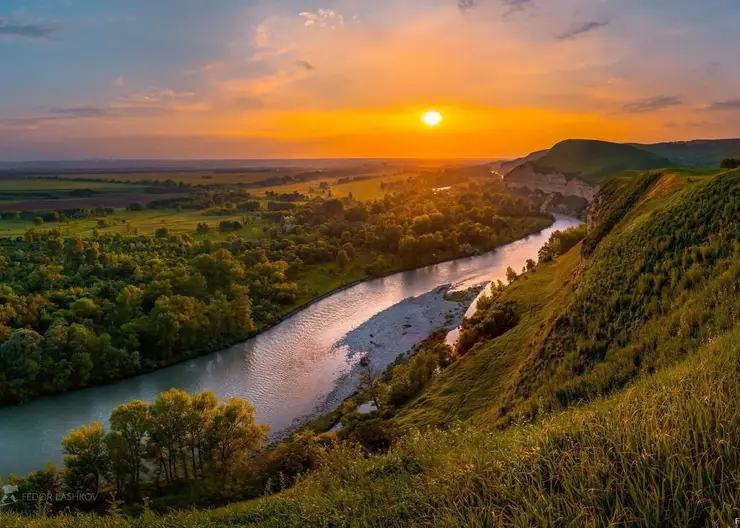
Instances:
[[[479,254],[552,223],[496,182],[372,202],[289,198],[255,211],[248,193],[232,197],[246,221],[271,222],[249,240],[230,221],[221,241],[196,238],[207,224],[192,235],[43,226],[0,239],[0,404],[221,349],[337,284]]]

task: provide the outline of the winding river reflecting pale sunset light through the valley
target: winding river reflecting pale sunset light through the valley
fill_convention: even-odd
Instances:
[[[103,387],[0,409],[0,475],[25,474],[48,460],[61,464],[61,439],[70,429],[99,420],[132,400],[152,401],[172,387],[241,397],[256,408],[258,422],[285,431],[318,406],[341,402],[354,391],[343,380],[361,354],[343,337],[374,315],[444,284],[462,286],[505,280],[506,268],[521,270],[556,230],[579,220],[556,222],[485,255],[437,264],[363,282],[298,312],[274,328],[227,350]],[[400,322],[398,323],[401,324]],[[327,401],[331,394],[332,401]]]

